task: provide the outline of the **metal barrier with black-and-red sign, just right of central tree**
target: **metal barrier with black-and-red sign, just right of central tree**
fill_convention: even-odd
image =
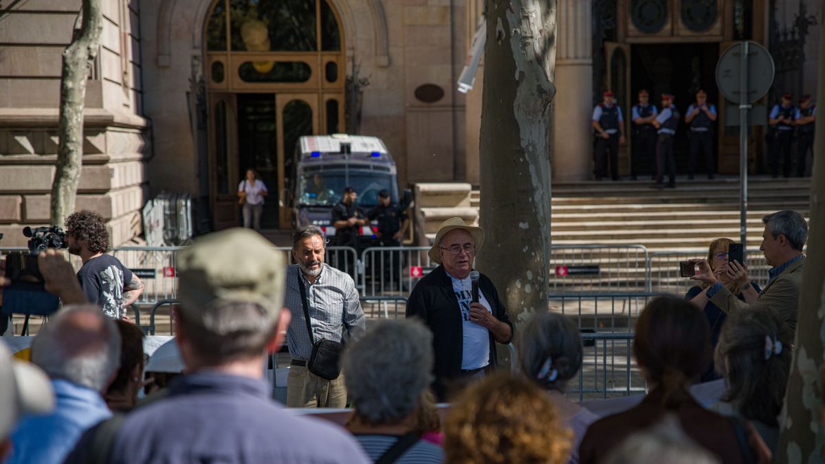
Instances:
[[[648,249],[631,245],[551,245],[550,291],[650,291]]]

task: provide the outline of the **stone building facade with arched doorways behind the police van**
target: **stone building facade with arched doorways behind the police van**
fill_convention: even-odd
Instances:
[[[237,223],[235,185],[250,167],[270,186],[266,227],[288,228],[285,163],[290,144],[308,132],[357,125],[380,136],[403,186],[479,183],[483,64],[472,91],[457,92],[455,83],[482,0],[101,1],[78,208],[105,215],[115,244],[140,234],[140,208],[162,191],[191,193],[200,230]],[[795,24],[799,5],[814,19],[804,45],[814,56],[823,12],[813,0],[558,0],[554,133],[564,136],[554,138],[554,178],[590,177],[590,115],[601,88],[620,94],[625,113],[641,87],[654,97],[714,88],[711,64],[726,46],[744,38],[767,45],[771,24]],[[2,2],[4,246],[25,243],[21,228],[48,219],[60,53],[79,7],[80,0]],[[651,64],[673,68],[680,60],[691,63],[691,78],[682,82],[680,71],[652,82]],[[813,92],[817,64],[804,66],[798,87]],[[360,92],[347,82],[353,74]],[[718,129],[724,172],[736,137]]]

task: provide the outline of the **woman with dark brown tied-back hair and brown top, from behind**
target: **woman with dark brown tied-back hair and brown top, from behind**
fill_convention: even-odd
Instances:
[[[625,438],[654,427],[667,414],[720,462],[770,462],[751,425],[706,410],[688,390],[710,363],[708,321],[700,310],[672,296],[651,301],[636,321],[633,352],[648,395],[634,408],[593,423],[582,439],[579,462],[605,462]]]

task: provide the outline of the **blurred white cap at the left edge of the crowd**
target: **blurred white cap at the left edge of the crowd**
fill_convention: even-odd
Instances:
[[[0,439],[7,437],[24,414],[54,410],[54,390],[49,377],[34,364],[12,359],[0,342]]]

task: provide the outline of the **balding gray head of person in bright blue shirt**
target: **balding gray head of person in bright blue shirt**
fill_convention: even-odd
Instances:
[[[103,391],[120,364],[120,332],[97,305],[69,305],[40,329],[31,362],[53,379]]]

